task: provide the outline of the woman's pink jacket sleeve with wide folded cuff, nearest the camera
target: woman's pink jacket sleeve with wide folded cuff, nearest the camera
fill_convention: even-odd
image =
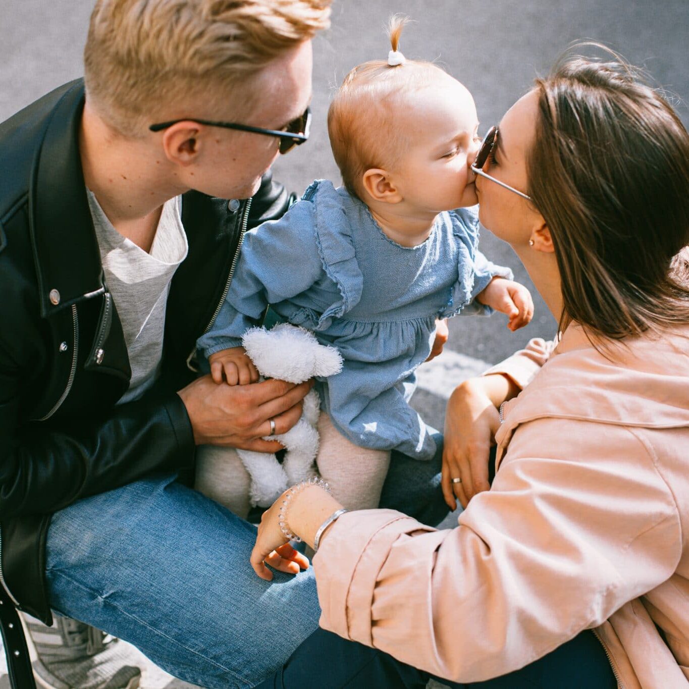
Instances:
[[[633,433],[605,426],[601,452],[596,425],[520,426],[457,528],[388,510],[340,517],[313,559],[320,625],[440,677],[482,681],[664,582],[681,554],[672,493]],[[563,433],[576,435],[576,459]]]

